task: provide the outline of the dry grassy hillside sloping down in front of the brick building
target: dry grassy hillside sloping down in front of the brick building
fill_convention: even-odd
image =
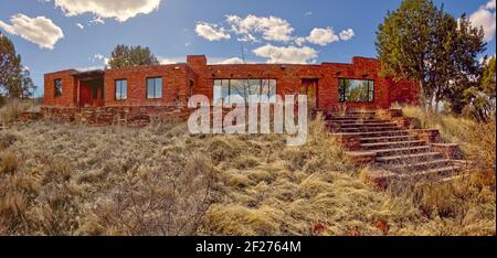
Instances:
[[[479,173],[391,193],[361,170],[319,121],[302,148],[183,123],[15,123],[0,131],[0,235],[495,235]]]

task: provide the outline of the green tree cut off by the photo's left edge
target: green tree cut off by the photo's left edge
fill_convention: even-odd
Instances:
[[[4,98],[28,98],[34,88],[30,72],[21,63],[13,43],[0,33],[0,96]]]

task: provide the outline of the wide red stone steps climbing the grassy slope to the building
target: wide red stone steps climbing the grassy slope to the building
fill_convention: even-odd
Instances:
[[[358,164],[372,164],[369,176],[377,186],[385,187],[395,181],[450,181],[462,171],[463,166],[447,159],[444,151],[429,144],[429,141],[436,142],[432,138],[398,126],[409,125],[399,120],[402,118],[399,110],[387,110],[387,115],[378,116],[376,111],[328,112],[325,117],[327,129],[349,150],[346,153]]]

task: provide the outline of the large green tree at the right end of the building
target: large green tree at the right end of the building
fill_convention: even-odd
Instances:
[[[457,88],[477,77],[483,35],[467,18],[457,21],[431,0],[404,0],[379,25],[376,45],[382,73],[417,82],[423,106],[433,110],[435,104],[438,110],[442,100],[461,97]]]

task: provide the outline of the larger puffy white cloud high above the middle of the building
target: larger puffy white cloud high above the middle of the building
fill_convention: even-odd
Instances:
[[[276,17],[226,15],[231,30],[241,37],[241,41],[256,41],[254,33],[261,33],[266,41],[288,42],[292,40],[294,28],[284,19]]]

